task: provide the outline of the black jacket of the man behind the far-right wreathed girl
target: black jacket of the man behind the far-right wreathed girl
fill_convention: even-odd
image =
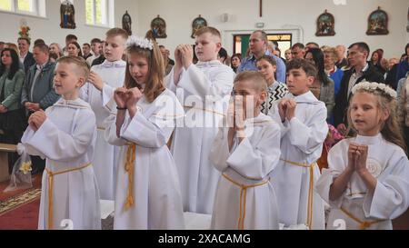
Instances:
[[[346,119],[346,110],[348,108],[348,100],[350,99],[347,97],[348,92],[348,84],[351,75],[354,74],[354,68],[348,71],[344,71],[343,79],[341,80],[341,89],[339,90],[338,95],[335,98],[335,107],[334,107],[334,124],[335,127],[338,124],[347,124]],[[369,66],[368,69],[364,72],[364,74],[356,80],[355,84],[360,82],[376,82],[376,83],[384,83],[384,75],[380,74],[374,67]],[[351,93],[350,93],[351,94]]]

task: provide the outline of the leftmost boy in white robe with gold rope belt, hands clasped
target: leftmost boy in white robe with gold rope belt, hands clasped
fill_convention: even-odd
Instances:
[[[96,125],[79,90],[89,74],[84,59],[65,56],[55,67],[62,98],[32,114],[22,137],[27,152],[45,157],[38,229],[101,229],[99,193],[92,164]]]

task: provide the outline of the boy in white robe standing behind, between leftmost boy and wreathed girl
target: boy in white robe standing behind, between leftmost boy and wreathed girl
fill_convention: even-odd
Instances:
[[[115,101],[114,91],[124,85],[126,62],[122,60],[128,35],[124,29],[112,28],[106,32],[105,61],[91,68],[91,74],[82,89],[81,97],[88,102],[96,117],[95,175],[101,199],[115,200],[115,163],[118,147],[104,139],[105,119],[111,113]]]

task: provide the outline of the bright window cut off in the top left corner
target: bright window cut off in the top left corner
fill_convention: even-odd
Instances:
[[[0,10],[45,17],[45,0],[0,0]]]

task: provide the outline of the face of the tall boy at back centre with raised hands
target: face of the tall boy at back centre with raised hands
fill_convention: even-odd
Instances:
[[[196,37],[195,53],[199,61],[208,62],[216,60],[221,47],[222,44],[217,42],[217,38],[210,33]]]

